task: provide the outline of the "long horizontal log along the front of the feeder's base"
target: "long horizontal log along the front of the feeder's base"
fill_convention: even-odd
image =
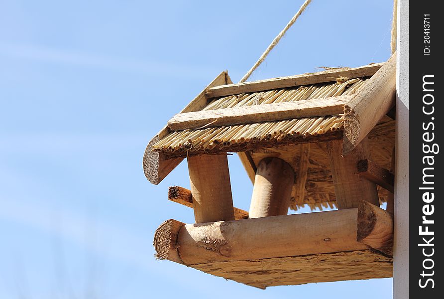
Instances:
[[[304,256],[344,251],[366,250],[367,242],[378,248],[386,240],[390,227],[380,225],[386,221],[377,210],[355,208],[319,213],[273,216],[236,221],[186,224],[178,232],[165,234],[162,245],[156,248],[177,248],[182,262],[197,265],[215,262],[233,262],[279,257]],[[365,219],[371,225],[357,225]],[[389,213],[387,213],[389,215]],[[158,230],[174,229],[162,225]],[[386,231],[387,230],[387,231]],[[177,235],[176,240],[169,236]],[[360,236],[357,241],[357,236]],[[371,242],[370,242],[371,241]],[[169,244],[172,243],[172,244]],[[383,244],[387,242],[384,241]],[[378,249],[380,250],[380,248]],[[164,249],[165,251],[165,249]]]

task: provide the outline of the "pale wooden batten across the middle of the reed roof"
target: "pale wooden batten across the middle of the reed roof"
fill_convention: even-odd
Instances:
[[[168,121],[173,130],[280,121],[344,112],[352,95],[176,114]]]

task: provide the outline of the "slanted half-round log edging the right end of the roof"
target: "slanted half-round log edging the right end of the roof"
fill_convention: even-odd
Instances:
[[[345,105],[344,148],[347,154],[395,105],[396,52]]]

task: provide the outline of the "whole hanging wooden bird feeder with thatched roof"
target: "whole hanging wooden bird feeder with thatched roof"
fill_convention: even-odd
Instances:
[[[396,53],[385,63],[232,84],[222,72],[148,144],[158,184],[184,158],[191,190],[168,198],[156,256],[257,288],[391,277]],[[227,152],[253,182],[233,207]],[[387,210],[380,208],[387,202]],[[319,213],[287,215],[308,204]]]

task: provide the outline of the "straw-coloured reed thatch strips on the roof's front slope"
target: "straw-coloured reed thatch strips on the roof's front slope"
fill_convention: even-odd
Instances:
[[[366,82],[366,78],[336,78],[335,82],[283,88],[215,99],[203,110],[215,110],[250,105],[301,101],[352,94]],[[309,117],[283,121],[233,125],[200,130],[175,131],[156,143],[153,151],[180,154],[188,151],[228,151],[234,145],[256,142],[282,142],[295,138],[323,135],[341,130],[343,115]]]

